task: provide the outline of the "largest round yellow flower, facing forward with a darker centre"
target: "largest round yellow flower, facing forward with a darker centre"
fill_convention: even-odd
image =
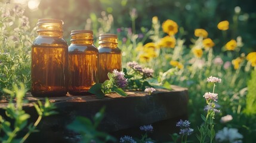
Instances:
[[[178,24],[172,20],[166,20],[162,24],[163,31],[168,35],[175,35],[178,32]]]

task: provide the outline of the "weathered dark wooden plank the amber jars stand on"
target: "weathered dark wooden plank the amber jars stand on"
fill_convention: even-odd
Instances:
[[[39,139],[42,142],[73,142],[74,140],[70,141],[70,136],[75,134],[67,130],[66,125],[76,116],[91,118],[103,106],[106,107],[106,115],[100,129],[109,133],[187,115],[189,97],[186,88],[172,86],[172,91],[157,89],[152,95],[146,95],[142,91],[126,93],[128,97],[109,94],[103,99],[97,99],[95,95],[51,97],[49,100],[57,106],[58,114],[42,120],[39,125],[41,132],[32,136],[37,138],[36,141]],[[32,107],[32,102],[44,101],[44,98],[32,97],[28,94],[26,99],[29,103],[24,106],[24,110],[32,116],[31,120],[36,120],[37,114]],[[7,103],[1,103],[0,108],[6,105]],[[3,114],[3,111],[0,110],[0,112]]]

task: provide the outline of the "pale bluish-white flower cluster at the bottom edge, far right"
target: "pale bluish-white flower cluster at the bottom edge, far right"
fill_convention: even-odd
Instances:
[[[237,143],[237,142],[242,142],[243,135],[241,135],[238,132],[238,129],[235,128],[223,128],[223,130],[218,130],[218,132],[215,135],[215,139],[218,142],[224,142],[224,141],[229,141],[231,143]]]

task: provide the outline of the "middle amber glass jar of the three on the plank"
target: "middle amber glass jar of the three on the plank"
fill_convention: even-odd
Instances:
[[[69,46],[69,94],[86,95],[97,82],[98,49],[91,30],[72,30]]]

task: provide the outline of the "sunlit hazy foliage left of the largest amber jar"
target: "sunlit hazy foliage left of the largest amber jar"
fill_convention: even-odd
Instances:
[[[30,88],[30,43],[35,31],[20,6],[2,4],[0,10],[0,95],[3,88],[23,82]]]

